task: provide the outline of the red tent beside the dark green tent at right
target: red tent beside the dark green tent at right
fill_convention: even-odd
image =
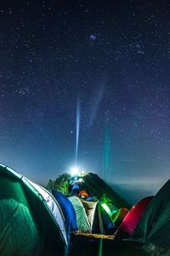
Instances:
[[[133,208],[127,213],[125,219],[123,219],[122,225],[120,225],[118,230],[116,230],[115,239],[128,238],[133,234],[133,230],[138,224],[140,217],[153,197],[154,196],[147,196],[133,206]]]

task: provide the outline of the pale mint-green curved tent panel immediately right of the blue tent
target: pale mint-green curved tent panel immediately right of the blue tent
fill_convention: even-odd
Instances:
[[[82,206],[82,202],[79,200],[77,196],[71,196],[68,198],[71,201],[77,215],[78,230],[82,232],[91,231],[88,217],[86,215],[85,209]]]

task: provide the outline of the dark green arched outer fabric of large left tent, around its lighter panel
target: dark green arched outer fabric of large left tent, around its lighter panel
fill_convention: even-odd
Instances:
[[[34,223],[37,225],[38,249],[41,256],[56,253],[59,248],[60,251],[64,249],[66,242],[57,220],[54,219],[45,199],[25,177],[12,168],[0,164],[0,188],[0,200],[14,199],[28,208]],[[0,247],[2,247],[1,242]]]

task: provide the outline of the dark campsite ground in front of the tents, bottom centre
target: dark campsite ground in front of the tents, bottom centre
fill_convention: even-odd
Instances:
[[[88,236],[75,236],[69,256],[147,256],[143,248],[134,242],[113,239],[93,238]]]

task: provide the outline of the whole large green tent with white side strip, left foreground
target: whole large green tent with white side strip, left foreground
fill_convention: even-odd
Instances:
[[[59,204],[41,186],[0,164],[0,255],[48,255],[64,250]]]

